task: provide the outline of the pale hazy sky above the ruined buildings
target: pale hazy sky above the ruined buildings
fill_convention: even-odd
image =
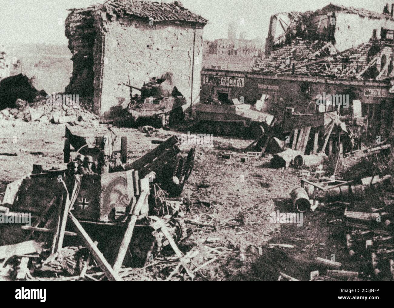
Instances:
[[[331,0],[334,4],[363,7],[383,12],[386,0]],[[0,0],[0,46],[30,43],[67,44],[64,19],[67,9],[87,7],[105,0]],[[164,0],[163,2],[173,2]],[[264,40],[268,33],[269,17],[288,11],[309,11],[322,8],[330,0],[181,0],[184,7],[209,20],[204,39],[227,37],[231,20],[244,18],[240,31],[247,38]]]

